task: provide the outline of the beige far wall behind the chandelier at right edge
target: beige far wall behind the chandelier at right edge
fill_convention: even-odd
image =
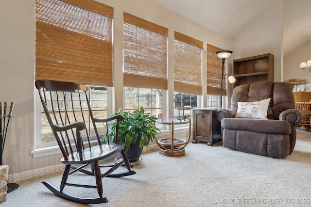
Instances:
[[[302,74],[300,64],[311,60],[311,41],[284,57],[284,80],[306,80],[306,91],[311,91],[311,74]],[[298,86],[304,90],[304,86]],[[294,88],[295,91],[296,87]]]

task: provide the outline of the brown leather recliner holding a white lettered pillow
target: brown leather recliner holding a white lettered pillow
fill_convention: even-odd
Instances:
[[[242,152],[286,158],[296,142],[296,126],[302,114],[295,110],[294,86],[284,82],[262,81],[239,85],[231,97],[231,109],[217,110],[223,145]],[[235,118],[238,102],[271,98],[267,119]]]

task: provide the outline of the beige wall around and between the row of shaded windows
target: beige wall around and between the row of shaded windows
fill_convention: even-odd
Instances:
[[[169,85],[173,86],[173,31],[220,48],[232,49],[232,40],[162,9],[148,0],[98,0],[114,7],[114,69],[116,108],[122,101],[123,11],[169,29]],[[204,59],[206,73],[206,58]],[[35,149],[35,0],[0,0],[0,101],[15,101],[3,164],[9,165],[9,181],[40,175],[59,168],[60,155],[33,158]],[[206,83],[205,83],[206,84]],[[204,88],[204,87],[203,87]],[[206,90],[206,89],[205,89]],[[173,90],[169,91],[173,95]],[[173,98],[168,102],[173,109]],[[169,111],[173,115],[173,111]]]

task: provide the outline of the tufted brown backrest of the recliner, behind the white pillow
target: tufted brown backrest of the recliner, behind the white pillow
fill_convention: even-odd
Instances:
[[[267,117],[279,119],[279,114],[286,109],[295,109],[294,86],[284,82],[261,81],[239,85],[234,88],[231,97],[231,109],[238,110],[238,102],[259,101],[271,98]]]

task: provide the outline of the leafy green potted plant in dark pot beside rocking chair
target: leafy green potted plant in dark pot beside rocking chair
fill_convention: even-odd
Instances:
[[[155,127],[157,118],[145,113],[143,107],[133,112],[121,111],[111,114],[123,115],[124,119],[119,121],[119,142],[125,143],[124,150],[128,159],[133,162],[139,159],[143,147],[155,140],[160,130]],[[116,122],[108,124],[109,141],[114,142]],[[107,142],[107,134],[104,135],[104,143]]]

